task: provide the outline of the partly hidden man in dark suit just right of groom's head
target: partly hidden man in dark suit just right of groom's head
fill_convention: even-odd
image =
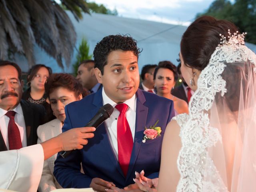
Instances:
[[[141,90],[148,91],[150,93],[155,93],[154,91],[154,71],[157,65],[144,65],[142,70],[141,70],[141,78],[142,78],[142,83],[140,84],[139,88]]]

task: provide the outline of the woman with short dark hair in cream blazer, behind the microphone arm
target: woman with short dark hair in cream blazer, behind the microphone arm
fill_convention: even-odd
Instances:
[[[56,119],[40,125],[37,129],[38,143],[53,138],[62,132],[62,125],[66,118],[65,106],[87,95],[82,85],[70,74],[53,74],[45,83],[45,92]],[[57,153],[44,161],[42,177],[39,183],[39,192],[49,192],[62,188],[53,176],[54,161]]]

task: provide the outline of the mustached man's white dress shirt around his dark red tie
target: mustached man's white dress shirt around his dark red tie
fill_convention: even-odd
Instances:
[[[23,116],[23,111],[21,108],[21,105],[18,104],[16,108],[14,108],[12,111],[15,111],[16,114],[14,116],[14,121],[16,125],[18,126],[18,129],[20,131],[20,138],[22,142],[22,147],[27,146],[27,136],[26,136],[26,125],[25,125],[25,120]],[[0,108],[0,131],[2,133],[2,136],[4,138],[4,142],[6,144],[7,149],[9,150],[9,142],[8,142],[8,123],[9,123],[9,117],[6,116],[5,114],[8,111]]]

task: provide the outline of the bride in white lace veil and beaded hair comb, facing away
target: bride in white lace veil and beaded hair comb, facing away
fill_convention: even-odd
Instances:
[[[168,124],[153,192],[256,191],[256,55],[234,24],[202,16],[180,43],[181,71],[194,95],[189,114]],[[114,187],[113,187],[114,189]]]

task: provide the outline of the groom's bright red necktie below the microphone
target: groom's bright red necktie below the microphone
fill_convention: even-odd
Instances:
[[[118,162],[121,166],[124,176],[126,176],[133,147],[132,132],[125,117],[128,105],[124,103],[118,104],[116,105],[116,109],[120,111],[117,120]]]

